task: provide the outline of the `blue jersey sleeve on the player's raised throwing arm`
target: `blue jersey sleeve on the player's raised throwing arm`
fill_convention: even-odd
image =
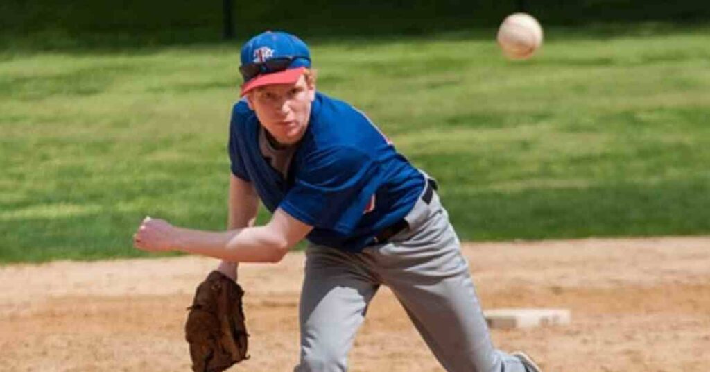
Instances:
[[[353,147],[324,149],[305,159],[279,207],[303,223],[351,233],[380,185],[378,164]]]

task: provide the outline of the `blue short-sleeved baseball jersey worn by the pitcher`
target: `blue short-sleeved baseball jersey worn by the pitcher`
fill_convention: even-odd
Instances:
[[[316,93],[310,121],[284,178],[264,159],[256,113],[234,105],[229,127],[232,173],[277,208],[313,226],[310,242],[359,251],[403,218],[425,186],[423,174],[396,152],[362,112]]]

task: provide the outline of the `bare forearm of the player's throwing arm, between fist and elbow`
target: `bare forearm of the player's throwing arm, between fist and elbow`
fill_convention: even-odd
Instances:
[[[229,262],[278,262],[290,248],[264,226],[225,232],[175,228],[173,236],[176,250]]]

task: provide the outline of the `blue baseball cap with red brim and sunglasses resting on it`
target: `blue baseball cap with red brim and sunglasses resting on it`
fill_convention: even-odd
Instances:
[[[282,31],[260,33],[241,47],[241,95],[264,85],[295,84],[310,67],[310,51],[300,38]]]

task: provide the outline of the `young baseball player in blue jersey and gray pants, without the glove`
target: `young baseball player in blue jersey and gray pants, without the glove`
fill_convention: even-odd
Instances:
[[[356,108],[317,92],[310,51],[283,32],[241,49],[241,100],[229,128],[229,228],[207,232],[146,218],[137,248],[236,262],[278,262],[307,239],[295,371],[346,371],[380,285],[392,289],[447,371],[535,372],[493,348],[436,182],[396,152]],[[253,226],[258,201],[273,216]]]

